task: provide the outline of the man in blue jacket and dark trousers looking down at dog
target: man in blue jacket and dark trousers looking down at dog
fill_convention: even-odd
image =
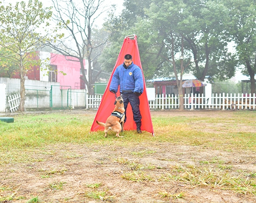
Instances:
[[[124,63],[117,67],[113,74],[109,90],[116,94],[119,85],[120,93],[124,100],[124,108],[126,110],[128,103],[130,103],[137,132],[141,133],[142,117],[139,111],[139,96],[144,90],[144,80],[141,69],[133,63],[130,54],[126,54]]]

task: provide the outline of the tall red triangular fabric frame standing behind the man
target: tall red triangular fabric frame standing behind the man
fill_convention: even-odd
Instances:
[[[108,116],[111,114],[113,109],[115,108],[114,102],[115,102],[115,94],[111,93],[109,91],[110,81],[112,79],[113,73],[117,69],[117,66],[122,64],[124,62],[124,56],[126,54],[131,54],[134,64],[138,65],[143,73],[140,57],[139,57],[139,51],[138,51],[138,45],[137,45],[137,36],[127,36],[124,39],[123,46],[120,50],[117,62],[115,64],[115,67],[112,71],[112,74],[110,76],[110,79],[107,83],[107,87],[105,89],[105,92],[102,96],[101,103],[99,106],[99,109],[97,111],[97,114],[95,116],[95,119],[93,121],[93,125],[91,127],[91,131],[97,131],[97,130],[103,130],[104,127],[99,126],[96,123],[96,120],[105,122]],[[149,108],[149,101],[147,96],[147,89],[146,89],[146,82],[143,74],[143,80],[144,80],[144,92],[139,96],[140,99],[140,113],[142,116],[141,119],[141,130],[145,130],[148,132],[151,132],[154,136],[154,129],[150,114],[150,108]],[[120,95],[120,92],[118,91],[117,96]],[[124,130],[134,130],[136,129],[136,124],[133,121],[133,114],[130,104],[128,104],[128,107],[126,109],[126,115],[127,120],[124,124]]]

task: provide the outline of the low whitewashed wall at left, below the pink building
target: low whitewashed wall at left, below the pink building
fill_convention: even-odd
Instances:
[[[7,112],[9,111],[9,103],[7,103],[8,101],[6,98],[7,96],[11,96],[12,94],[18,93],[20,91],[20,79],[0,78],[0,85],[0,112]],[[55,104],[56,107],[65,107],[65,105],[67,105],[68,90],[61,91],[60,83],[25,80],[25,109],[50,108],[51,87],[56,89],[56,91],[53,92],[53,98],[55,98],[53,100],[53,104]],[[86,90],[69,90],[68,106],[70,108],[85,108]]]

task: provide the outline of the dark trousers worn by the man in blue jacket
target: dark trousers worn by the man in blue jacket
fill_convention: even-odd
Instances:
[[[135,123],[141,122],[141,114],[139,111],[139,97],[134,93],[123,93],[124,108],[127,109],[128,103],[130,103],[133,113],[133,120]],[[126,112],[125,112],[125,121],[126,121]]]

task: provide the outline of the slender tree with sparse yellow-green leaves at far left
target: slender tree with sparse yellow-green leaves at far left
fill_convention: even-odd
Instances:
[[[47,34],[43,35],[42,28],[49,25],[46,20],[50,17],[50,8],[43,8],[38,0],[0,7],[0,46],[8,51],[8,55],[1,57],[8,58],[9,62],[19,67],[21,112],[25,104],[25,75],[32,66],[40,63],[35,60],[35,51],[46,39]]]

